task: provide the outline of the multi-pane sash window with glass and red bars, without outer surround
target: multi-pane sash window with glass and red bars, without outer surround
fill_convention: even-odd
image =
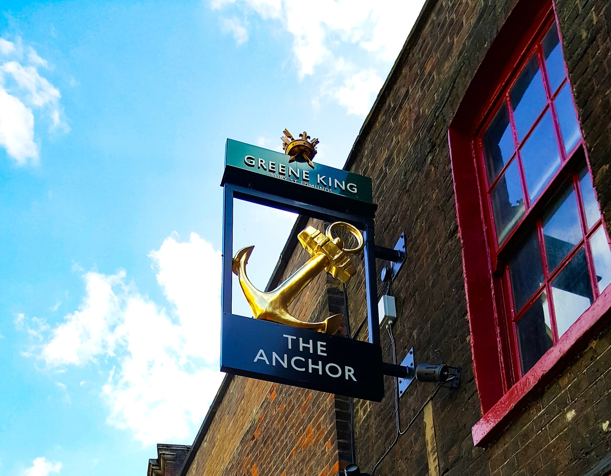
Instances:
[[[476,148],[513,383],[611,283],[611,250],[555,22],[535,37],[490,112]]]

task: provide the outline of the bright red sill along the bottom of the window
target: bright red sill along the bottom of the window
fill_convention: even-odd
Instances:
[[[598,330],[611,308],[611,286],[577,319],[556,345],[541,357],[486,414],[471,428],[475,446],[486,446],[498,438],[511,420],[519,414],[530,398],[556,375],[556,371],[582,350]]]

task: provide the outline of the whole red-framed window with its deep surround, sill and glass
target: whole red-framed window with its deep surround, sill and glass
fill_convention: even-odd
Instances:
[[[448,139],[486,445],[611,315],[611,248],[550,0],[519,0]]]

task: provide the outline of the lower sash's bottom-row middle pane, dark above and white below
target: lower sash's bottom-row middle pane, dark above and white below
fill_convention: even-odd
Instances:
[[[577,251],[565,269],[552,281],[552,297],[560,337],[594,302],[584,248]]]

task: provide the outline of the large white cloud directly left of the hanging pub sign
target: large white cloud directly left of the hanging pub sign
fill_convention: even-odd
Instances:
[[[149,256],[172,309],[127,284],[124,271],[88,272],[81,306],[38,352],[50,367],[114,365],[101,388],[108,422],[144,444],[191,435],[222,378],[221,254],[192,233],[188,242],[170,236]]]

